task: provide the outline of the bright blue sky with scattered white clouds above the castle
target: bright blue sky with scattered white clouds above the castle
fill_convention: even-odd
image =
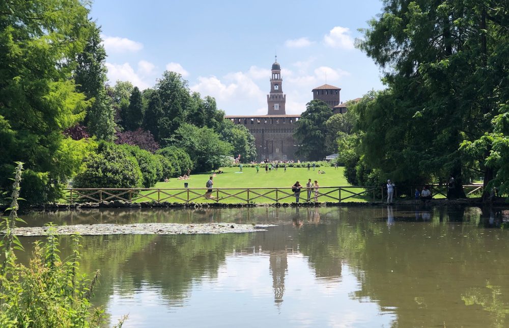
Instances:
[[[312,90],[341,88],[341,101],[380,90],[380,70],[355,48],[379,0],[96,0],[108,79],[151,88],[164,70],[213,96],[227,115],[267,114],[277,54],[287,114],[301,114]]]

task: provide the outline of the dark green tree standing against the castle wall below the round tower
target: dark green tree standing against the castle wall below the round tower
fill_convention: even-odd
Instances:
[[[306,111],[296,122],[294,138],[300,144],[298,156],[308,160],[321,160],[327,155],[325,149],[325,122],[332,116],[332,110],[321,100],[307,103]]]

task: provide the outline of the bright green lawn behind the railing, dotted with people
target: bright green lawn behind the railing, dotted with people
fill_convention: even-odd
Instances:
[[[257,187],[271,187],[271,188],[286,188],[285,191],[287,193],[291,193],[291,186],[296,182],[299,181],[301,185],[305,186],[307,179],[312,179],[312,181],[318,180],[318,183],[320,187],[329,187],[329,186],[350,186],[350,184],[346,181],[344,175],[343,175],[343,168],[337,168],[337,170],[334,170],[333,167],[325,167],[320,168],[320,170],[325,171],[325,174],[318,174],[318,168],[313,171],[313,168],[311,168],[310,171],[307,171],[307,168],[287,168],[287,172],[284,172],[284,169],[279,168],[277,171],[272,170],[270,173],[265,173],[265,167],[260,167],[260,173],[256,173],[255,168],[243,168],[243,172],[239,172],[239,168],[222,168],[221,170],[224,171],[222,174],[218,174],[214,177],[214,188],[239,188],[237,190],[225,190],[229,194],[235,194],[241,191],[240,188],[257,188]],[[155,188],[184,188],[184,182],[189,183],[189,188],[204,188],[206,182],[208,181],[210,176],[210,173],[203,173],[203,174],[192,174],[191,173],[191,179],[189,180],[178,180],[177,178],[172,178],[168,182],[158,182],[155,185]],[[330,191],[332,189],[322,189],[322,192],[325,193],[327,191]],[[362,188],[351,188],[348,189],[353,193],[359,193],[363,191]],[[254,193],[264,194],[267,193],[269,190],[252,190],[250,191],[250,198],[256,197]],[[196,190],[197,193],[203,194],[205,193],[205,190]],[[148,192],[145,192],[147,194]],[[168,194],[174,195],[176,192],[168,192]],[[216,196],[217,193],[214,190],[213,196]],[[282,194],[279,192],[279,197],[286,196],[285,194]],[[338,197],[338,192],[334,192],[330,194],[333,197]],[[342,190],[342,198],[348,197],[349,194],[345,190]],[[275,198],[275,192],[271,192],[270,194],[267,194],[266,196]],[[185,198],[184,195],[181,195],[180,197]],[[192,196],[191,196],[192,197]],[[240,199],[229,197],[228,195],[219,193],[219,197],[224,197],[225,199],[220,200],[221,203],[243,203],[245,201],[242,201]],[[246,198],[246,194],[238,195],[240,198]],[[161,196],[162,198],[162,196]],[[305,190],[301,193],[301,202],[306,201],[305,198],[307,198]],[[366,200],[371,200],[371,197],[352,197],[349,198],[348,202],[364,202]],[[149,201],[148,198],[139,199],[139,201]],[[174,198],[168,199],[169,202],[175,202],[178,201]],[[288,197],[281,202],[284,203],[291,203],[294,202],[294,197]],[[333,199],[320,196],[318,198],[319,202],[325,202],[325,201],[332,201]],[[211,200],[206,200],[204,197],[199,197],[194,202],[213,202]],[[253,200],[254,203],[273,203],[274,201],[260,197],[258,199]]]

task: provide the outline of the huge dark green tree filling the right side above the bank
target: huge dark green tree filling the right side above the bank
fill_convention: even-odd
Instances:
[[[490,144],[474,159],[459,148],[493,131],[507,99],[507,67],[498,64],[507,61],[506,13],[505,4],[490,0],[384,2],[359,43],[386,68],[388,86],[360,113],[367,165],[407,181],[453,174],[457,197],[474,161],[485,184],[492,180]]]

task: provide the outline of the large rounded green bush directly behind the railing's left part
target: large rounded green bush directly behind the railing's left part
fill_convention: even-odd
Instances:
[[[122,146],[100,142],[97,153],[89,154],[86,169],[74,178],[75,188],[136,188],[144,179],[136,158]]]

